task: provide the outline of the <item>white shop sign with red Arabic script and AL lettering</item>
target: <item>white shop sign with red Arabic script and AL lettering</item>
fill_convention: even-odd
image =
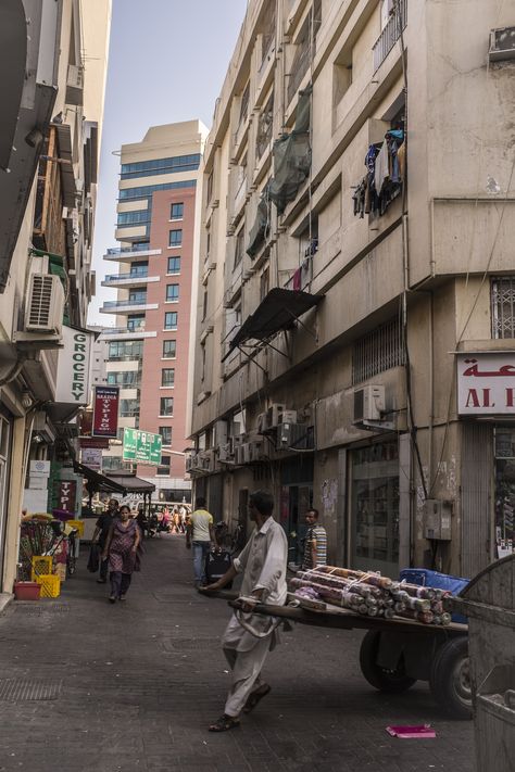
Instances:
[[[515,354],[457,354],[457,412],[515,416]]]

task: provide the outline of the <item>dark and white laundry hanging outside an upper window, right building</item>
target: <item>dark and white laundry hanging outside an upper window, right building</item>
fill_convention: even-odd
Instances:
[[[390,129],[385,141],[370,144],[365,156],[366,174],[352,195],[354,215],[381,216],[401,193],[404,179],[404,131]]]

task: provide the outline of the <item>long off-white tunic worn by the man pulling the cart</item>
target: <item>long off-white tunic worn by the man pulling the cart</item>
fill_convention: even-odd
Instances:
[[[259,530],[254,530],[244,549],[234,561],[238,573],[243,571],[240,595],[251,595],[254,590],[263,590],[262,603],[282,606],[287,598],[286,565],[288,541],[284,529],[269,517]],[[258,631],[268,630],[274,617],[244,615],[247,621]],[[273,640],[272,640],[273,638]],[[260,638],[247,632],[236,617],[225,631],[222,645],[238,651],[250,651]],[[271,633],[271,645],[277,642],[276,633]]]

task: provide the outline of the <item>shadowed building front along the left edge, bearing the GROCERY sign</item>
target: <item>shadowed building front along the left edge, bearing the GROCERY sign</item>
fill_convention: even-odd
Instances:
[[[81,480],[71,459],[75,418],[89,402],[91,336],[84,328],[95,294],[110,20],[110,0],[12,0],[0,10],[0,591],[7,593],[22,508],[59,506],[61,483],[72,479],[68,505],[80,507]],[[45,482],[32,479],[34,460],[50,463]]]

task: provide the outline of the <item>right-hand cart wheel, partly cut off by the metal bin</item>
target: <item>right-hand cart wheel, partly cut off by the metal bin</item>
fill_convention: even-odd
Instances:
[[[453,719],[472,719],[472,688],[466,636],[447,641],[435,655],[429,687],[440,707]]]

